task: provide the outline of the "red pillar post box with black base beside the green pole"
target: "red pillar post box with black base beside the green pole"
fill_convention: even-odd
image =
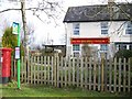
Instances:
[[[2,51],[2,84],[7,84],[11,77],[11,52],[12,48],[1,48]]]

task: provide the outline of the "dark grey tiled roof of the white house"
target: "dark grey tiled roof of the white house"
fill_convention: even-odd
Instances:
[[[69,7],[64,22],[132,21],[132,3]]]

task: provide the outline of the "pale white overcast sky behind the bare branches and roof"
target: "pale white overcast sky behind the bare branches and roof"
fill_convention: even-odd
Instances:
[[[37,0],[35,0],[35,1],[37,1]],[[61,0],[58,0],[58,1],[61,1]],[[64,1],[63,7],[64,7],[65,12],[67,11],[68,7],[107,3],[107,0],[63,0],[63,1]],[[131,2],[132,0],[116,0],[116,1]],[[9,6],[11,8],[10,3],[7,3],[7,2],[4,3],[4,8],[9,8]],[[3,4],[2,4],[2,7],[3,7]],[[10,11],[10,12],[0,14],[0,21],[2,22],[1,19],[4,18],[8,21],[10,21],[10,24],[12,24],[13,21],[21,20],[19,13],[20,12],[16,12],[16,11]],[[31,12],[26,12],[26,18],[28,18],[26,20],[28,20],[28,22],[33,24],[33,28],[35,30],[35,34],[34,34],[35,42],[34,43],[41,44],[41,43],[47,42],[47,40],[53,40],[53,44],[55,44],[55,45],[64,44],[64,41],[63,41],[64,34],[65,34],[65,28],[63,24],[64,16],[65,16],[65,13],[63,13],[59,21],[57,21],[59,25],[55,28],[55,24],[44,24],[36,16],[33,16]],[[2,22],[2,24],[1,24],[1,22],[0,22],[0,29],[1,29],[1,26],[3,26],[3,22]]]

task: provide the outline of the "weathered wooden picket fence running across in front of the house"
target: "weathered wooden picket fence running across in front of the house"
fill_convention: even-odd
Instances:
[[[25,62],[22,57],[21,82],[130,92],[131,67],[131,58],[106,61],[87,57],[31,56],[29,62]],[[16,78],[15,64],[12,64],[12,78]]]

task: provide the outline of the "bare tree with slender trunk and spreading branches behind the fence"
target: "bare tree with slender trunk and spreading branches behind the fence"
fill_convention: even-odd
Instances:
[[[50,23],[51,20],[56,23],[56,19],[58,18],[58,13],[61,13],[62,7],[61,2],[55,1],[55,0],[40,0],[37,1],[35,7],[29,7],[25,8],[25,3],[32,2],[34,0],[8,0],[8,1],[20,1],[21,2],[21,8],[9,8],[4,10],[0,10],[0,13],[7,12],[7,11],[21,11],[22,13],[22,23],[23,23],[23,32],[24,32],[24,52],[25,52],[25,57],[28,56],[28,29],[26,29],[26,16],[25,16],[25,11],[32,11],[33,15],[37,16],[42,22],[45,22],[45,20],[42,20],[41,14],[43,13],[47,19],[50,19],[47,22]],[[26,2],[25,2],[26,1]]]

